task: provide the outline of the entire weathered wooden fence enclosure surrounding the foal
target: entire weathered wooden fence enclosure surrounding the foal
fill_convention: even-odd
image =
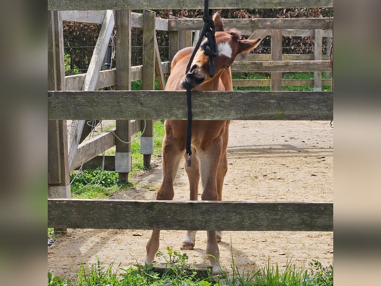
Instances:
[[[220,3],[222,2],[222,3]],[[209,0],[210,8],[332,7],[333,0]],[[48,226],[66,228],[168,230],[293,230],[333,231],[333,203],[256,203],[202,201],[124,201],[70,199],[69,172],[116,145],[111,158],[120,179],[131,170],[129,144],[112,133],[80,144],[86,120],[116,120],[114,132],[123,141],[141,130],[145,164],[153,151],[153,121],[187,119],[186,92],[154,91],[157,76],[164,89],[170,62],[161,62],[156,30],[169,31],[170,58],[191,44],[191,33],[201,19],[161,19],[147,9],[203,8],[201,0],[48,0]],[[144,9],[143,14],[131,10]],[[102,23],[87,74],[65,77],[62,20]],[[331,71],[321,54],[322,37],[332,36],[333,18],[224,19],[226,26],[254,31],[252,37],[271,34],[271,55],[241,57],[232,72],[270,72],[270,81],[234,81],[235,86],[270,85],[271,91],[194,92],[194,120],[332,120],[333,92],[322,92],[321,72]],[[117,26],[116,68],[100,71],[108,39]],[[131,67],[131,27],[143,29],[143,64]],[[300,30],[300,31],[295,31]],[[282,35],[315,37],[315,55],[282,55]],[[297,60],[295,60],[297,59]],[[253,61],[254,60],[254,61]],[[282,72],[314,72],[314,91],[281,91]],[[142,76],[144,75],[144,76]],[[142,91],[130,83],[142,79]],[[298,83],[299,84],[299,83]],[[305,82],[303,82],[305,84]],[[310,84],[310,81],[308,81]],[[96,91],[114,86],[114,91]],[[213,105],[213,109],[208,107]],[[73,120],[67,134],[66,120]],[[69,140],[68,140],[69,137]],[[91,164],[91,162],[89,163]],[[110,167],[112,168],[112,167]],[[187,219],[175,214],[187,212]],[[214,215],[215,214],[215,215]],[[218,215],[217,215],[218,214]],[[226,218],[222,218],[225,215]],[[162,220],[166,217],[166,220]],[[205,219],[201,219],[201,217]],[[223,223],[222,223],[223,222]]]

